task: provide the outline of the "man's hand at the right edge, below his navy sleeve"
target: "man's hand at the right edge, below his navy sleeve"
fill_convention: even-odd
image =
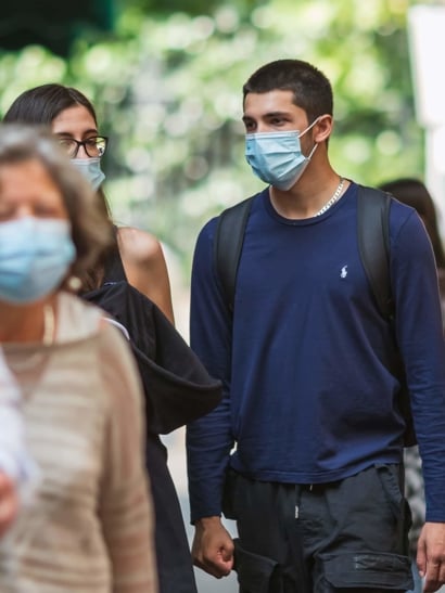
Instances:
[[[417,545],[417,566],[424,577],[425,593],[445,583],[445,523],[424,524]]]

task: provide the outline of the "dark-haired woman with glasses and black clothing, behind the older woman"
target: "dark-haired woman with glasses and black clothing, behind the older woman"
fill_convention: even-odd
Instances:
[[[102,201],[104,215],[106,216],[106,203],[101,189],[104,175],[101,171],[100,159],[105,152],[107,139],[99,133],[94,108],[81,92],[55,83],[30,89],[14,101],[4,116],[4,120],[49,125],[73,159],[73,164],[80,169],[97,190],[97,195]],[[153,235],[132,228],[114,227],[114,231],[112,247],[104,254],[104,257],[94,269],[81,279],[81,291],[85,298],[94,301],[114,317],[122,313],[126,320],[129,320],[125,331],[127,336],[132,338],[140,330],[131,323],[131,313],[134,311],[128,310],[131,309],[136,300],[141,308],[149,311],[150,323],[152,321],[150,315],[153,310],[153,302],[158,306],[169,321],[174,321],[168,274],[161,245]],[[105,304],[102,293],[99,296],[98,293],[94,293],[94,289],[100,289],[105,285],[115,285],[119,288],[122,284],[131,287],[130,291],[128,286],[124,286],[126,294],[134,299],[130,305],[128,305],[128,300],[113,298],[113,293],[112,298],[107,298]],[[88,291],[93,291],[93,293]],[[143,301],[140,295],[142,295]],[[145,311],[142,311],[142,313],[145,314]],[[154,326],[153,323],[151,327]],[[174,327],[169,323],[163,325],[163,327],[169,327],[170,334],[174,333]],[[149,332],[150,327],[147,326],[147,333]],[[148,340],[156,340],[154,335],[144,337]],[[153,349],[153,358],[156,358],[156,351]],[[140,351],[139,353],[143,357],[143,353]],[[150,363],[147,358],[149,357],[147,356],[144,359],[145,364]],[[137,360],[139,363],[139,359]],[[189,373],[191,373],[192,364],[194,364],[194,361],[188,370]],[[150,366],[149,371],[153,372],[153,366]],[[204,384],[206,375],[200,375],[200,381],[201,376]],[[154,381],[156,376],[150,375],[149,378]],[[196,388],[199,387],[200,385]],[[147,392],[151,395],[151,391],[152,388],[149,386],[145,389],[145,397]],[[145,403],[149,405],[150,402],[147,401]],[[174,411],[171,411],[173,413]],[[158,434],[151,429],[153,418],[149,411],[147,411],[147,468],[154,502],[160,592],[196,593],[181,510],[167,467],[167,450]],[[188,415],[185,415],[182,424],[188,417]],[[178,427],[178,422],[177,420],[176,424],[168,426],[165,431]],[[158,429],[162,430],[162,426]]]

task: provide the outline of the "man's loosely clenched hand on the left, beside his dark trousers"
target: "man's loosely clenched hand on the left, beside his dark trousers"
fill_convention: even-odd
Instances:
[[[204,517],[195,523],[192,545],[193,564],[220,579],[233,568],[233,541],[219,517]]]

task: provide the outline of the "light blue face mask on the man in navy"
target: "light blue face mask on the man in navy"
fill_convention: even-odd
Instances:
[[[253,172],[265,183],[279,190],[290,190],[302,177],[317,149],[314,145],[308,156],[302,153],[301,137],[318,118],[301,133],[297,130],[284,132],[247,133],[245,137],[245,158]]]

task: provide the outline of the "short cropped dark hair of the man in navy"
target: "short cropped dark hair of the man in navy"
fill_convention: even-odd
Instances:
[[[277,60],[258,68],[243,86],[243,101],[250,92],[292,91],[293,103],[306,112],[309,123],[333,114],[333,93],[328,78],[302,60]]]

